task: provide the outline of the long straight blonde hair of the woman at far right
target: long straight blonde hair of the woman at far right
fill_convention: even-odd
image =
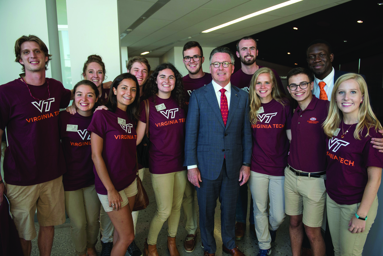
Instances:
[[[327,118],[322,125],[324,133],[326,133],[326,135],[329,138],[332,137],[334,132],[337,130],[343,118],[343,113],[342,111],[340,111],[336,103],[337,90],[340,84],[350,79],[354,79],[355,82],[359,84],[360,92],[362,93],[362,95],[364,95],[363,102],[359,105],[359,110],[358,110],[359,121],[354,131],[354,138],[361,139],[360,135],[364,128],[367,128],[367,134],[365,137],[369,135],[368,130],[371,127],[374,127],[375,131],[382,129],[380,122],[378,121],[374,112],[372,111],[372,108],[370,105],[370,98],[368,97],[366,81],[359,74],[347,73],[340,76],[335,82],[334,89],[332,90],[332,94],[331,94],[329,114],[327,115]]]

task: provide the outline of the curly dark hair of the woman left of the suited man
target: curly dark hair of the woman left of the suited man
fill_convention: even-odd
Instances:
[[[158,92],[158,86],[156,83],[157,76],[159,72],[164,69],[170,69],[171,71],[173,71],[175,76],[175,86],[174,86],[174,89],[172,90],[171,95],[173,99],[177,102],[178,106],[180,106],[180,108],[185,109],[185,106],[186,106],[185,95],[184,95],[185,92],[183,91],[182,75],[173,66],[173,64],[168,62],[162,63],[154,69],[153,73],[151,74],[151,76],[146,82],[146,87],[144,89],[144,95],[143,95],[144,98],[149,98],[153,96],[153,102],[155,104],[155,98],[157,97],[156,94]]]

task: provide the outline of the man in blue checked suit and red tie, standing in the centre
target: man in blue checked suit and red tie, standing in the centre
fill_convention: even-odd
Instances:
[[[250,176],[249,99],[230,84],[234,54],[226,47],[210,54],[213,81],[190,95],[186,120],[185,162],[200,208],[204,256],[215,254],[214,212],[221,203],[222,250],[243,256],[235,244],[234,226],[239,186]]]

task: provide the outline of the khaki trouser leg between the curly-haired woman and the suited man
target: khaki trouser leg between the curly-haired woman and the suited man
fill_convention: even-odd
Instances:
[[[195,206],[195,187],[190,181],[186,181],[185,192],[182,198],[183,218],[185,229],[188,235],[195,235],[197,232],[197,212]]]

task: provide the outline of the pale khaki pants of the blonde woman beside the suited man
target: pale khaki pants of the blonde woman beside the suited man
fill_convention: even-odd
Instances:
[[[249,185],[254,202],[255,233],[259,249],[271,248],[269,230],[277,230],[285,220],[285,176],[271,176],[250,171]],[[267,203],[270,199],[270,215]]]

